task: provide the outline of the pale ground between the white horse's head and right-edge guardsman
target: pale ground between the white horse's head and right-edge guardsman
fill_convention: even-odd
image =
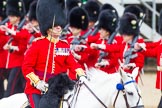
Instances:
[[[139,80],[139,87],[142,92],[145,108],[157,108],[160,101],[160,90],[155,89],[156,74],[145,73],[142,76],[144,85]]]

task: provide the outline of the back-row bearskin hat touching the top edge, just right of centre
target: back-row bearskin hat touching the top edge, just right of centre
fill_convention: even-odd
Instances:
[[[96,22],[100,12],[100,6],[96,1],[88,1],[84,5],[84,9],[88,12],[89,21]]]

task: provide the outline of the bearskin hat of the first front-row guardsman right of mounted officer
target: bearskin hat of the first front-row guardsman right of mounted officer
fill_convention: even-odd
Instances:
[[[69,13],[70,26],[86,30],[88,27],[88,13],[81,7],[74,7]]]

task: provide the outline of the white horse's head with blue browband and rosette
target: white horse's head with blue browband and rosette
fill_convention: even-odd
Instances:
[[[121,82],[117,84],[117,89],[123,92],[123,98],[127,108],[143,108],[141,92],[136,84],[138,69],[135,68],[132,74],[120,70]]]

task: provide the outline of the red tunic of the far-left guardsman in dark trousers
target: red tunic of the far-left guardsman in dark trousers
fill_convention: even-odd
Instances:
[[[12,28],[14,30],[17,29],[17,26],[13,26],[11,23],[7,23],[7,27],[10,29]],[[0,34],[8,37],[8,40],[9,40],[9,36],[6,35],[4,31],[0,31]],[[12,36],[12,35],[10,36],[13,38],[13,40],[11,41],[11,45],[17,46],[19,48],[19,51],[14,51],[10,53],[9,51],[6,50],[7,51],[6,53],[7,60],[5,63],[6,68],[14,68],[14,67],[18,67],[22,65],[22,61],[24,59],[24,53],[27,49],[26,39],[28,36],[29,36],[29,33],[26,30],[20,30],[19,32],[16,33],[15,36]]]

